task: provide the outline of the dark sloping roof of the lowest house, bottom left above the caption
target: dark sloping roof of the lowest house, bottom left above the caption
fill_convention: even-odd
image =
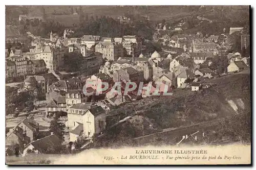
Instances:
[[[59,145],[61,145],[61,140],[58,138],[57,135],[53,134],[53,135],[46,136],[44,138],[32,141],[25,148],[27,148],[30,144],[33,145],[35,150],[44,151],[47,148],[58,147]]]

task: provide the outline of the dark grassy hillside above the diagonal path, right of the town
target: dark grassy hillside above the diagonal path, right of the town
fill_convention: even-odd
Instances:
[[[129,115],[136,110],[164,129],[235,114],[226,100],[240,98],[246,106],[250,105],[249,74],[230,75],[210,82],[215,85],[199,92],[176,89],[173,96],[151,97],[126,103],[112,113],[126,112]]]

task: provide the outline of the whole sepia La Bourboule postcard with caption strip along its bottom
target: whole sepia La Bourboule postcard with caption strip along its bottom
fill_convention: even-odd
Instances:
[[[250,6],[6,6],[6,164],[251,164]]]

